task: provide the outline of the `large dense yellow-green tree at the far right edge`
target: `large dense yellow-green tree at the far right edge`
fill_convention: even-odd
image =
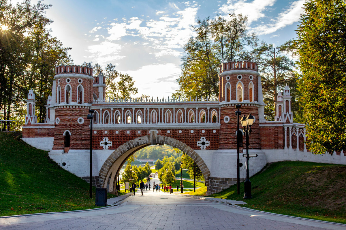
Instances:
[[[306,1],[297,35],[308,146],[314,153],[345,150],[345,1]]]

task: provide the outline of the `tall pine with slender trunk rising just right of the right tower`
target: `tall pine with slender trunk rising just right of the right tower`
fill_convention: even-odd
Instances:
[[[291,46],[288,41],[282,46],[274,47],[273,44],[262,43],[261,47],[253,50],[258,72],[261,74],[263,101],[266,103],[265,117],[273,121],[277,115],[275,102],[278,91],[282,91],[289,79],[294,78],[293,61],[284,54]],[[294,89],[291,86],[291,88]]]

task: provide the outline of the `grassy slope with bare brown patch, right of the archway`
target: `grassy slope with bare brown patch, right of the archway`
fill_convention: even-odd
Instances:
[[[346,223],[346,166],[300,161],[272,163],[250,178],[252,199],[244,199],[236,185],[211,197],[243,200],[244,207]]]

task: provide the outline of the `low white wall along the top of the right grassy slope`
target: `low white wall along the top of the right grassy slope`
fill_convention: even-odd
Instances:
[[[267,161],[311,161],[330,164],[346,164],[346,156],[341,153],[339,156],[334,153],[330,154],[313,154],[311,152],[300,152],[293,149],[270,149],[262,150],[265,152]]]

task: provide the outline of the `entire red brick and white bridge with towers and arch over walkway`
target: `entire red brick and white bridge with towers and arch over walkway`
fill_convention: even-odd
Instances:
[[[104,98],[105,78],[86,66],[58,66],[45,123],[37,123],[35,94],[28,93],[23,140],[49,151],[62,168],[89,179],[90,121],[93,123],[93,184],[116,190],[119,170],[137,150],[167,144],[188,154],[201,169],[207,194],[236,182],[236,105],[255,122],[250,138],[250,175],[267,162],[305,160],[345,163],[344,154],[321,158],[306,149],[304,124],[293,123],[288,86],[279,92],[275,121],[264,119],[261,77],[254,62],[220,65],[219,98]],[[239,130],[243,132],[242,130]],[[245,145],[244,145],[245,146]],[[241,148],[242,152],[243,149]],[[245,158],[240,177],[245,178]]]

